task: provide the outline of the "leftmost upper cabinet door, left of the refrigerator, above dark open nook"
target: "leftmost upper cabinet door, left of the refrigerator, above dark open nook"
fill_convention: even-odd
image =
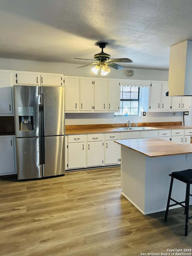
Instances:
[[[0,114],[13,114],[11,73],[0,72]]]

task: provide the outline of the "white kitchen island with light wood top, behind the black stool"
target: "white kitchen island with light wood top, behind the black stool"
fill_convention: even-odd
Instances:
[[[121,145],[122,194],[143,214],[164,211],[169,174],[192,169],[192,144],[181,145],[156,138],[115,142]],[[185,190],[183,182],[174,180],[172,198],[184,201]]]

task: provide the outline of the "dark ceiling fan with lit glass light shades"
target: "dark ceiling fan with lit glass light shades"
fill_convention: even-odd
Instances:
[[[131,59],[128,58],[122,58],[122,59],[111,59],[111,56],[107,53],[104,53],[103,49],[108,45],[108,43],[106,42],[100,42],[97,43],[97,45],[102,49],[101,53],[97,53],[94,55],[94,59],[83,59],[83,60],[93,60],[93,61],[97,61],[88,65],[83,65],[81,67],[78,68],[84,68],[90,65],[95,65],[94,68],[91,68],[91,70],[93,71],[93,73],[97,74],[99,69],[101,68],[101,75],[105,76],[107,74],[109,74],[109,72],[111,71],[110,68],[115,68],[116,70],[120,70],[125,68],[124,66],[118,65],[114,62],[133,62]],[[79,59],[79,58],[74,58],[74,59]],[[109,68],[110,67],[110,68]]]

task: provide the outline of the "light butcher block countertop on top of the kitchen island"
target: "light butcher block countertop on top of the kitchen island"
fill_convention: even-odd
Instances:
[[[192,144],[178,144],[161,139],[131,139],[114,141],[148,157],[183,155],[192,153]]]

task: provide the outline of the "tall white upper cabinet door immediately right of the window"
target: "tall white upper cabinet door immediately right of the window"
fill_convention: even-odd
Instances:
[[[161,110],[161,83],[151,83],[150,107],[152,110]]]

